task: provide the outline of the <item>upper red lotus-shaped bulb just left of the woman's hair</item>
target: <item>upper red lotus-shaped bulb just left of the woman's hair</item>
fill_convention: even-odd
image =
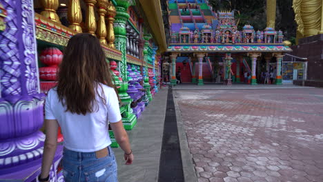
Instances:
[[[41,52],[39,57],[41,63],[44,63],[50,67],[57,66],[63,59],[63,53],[58,48],[46,48]]]

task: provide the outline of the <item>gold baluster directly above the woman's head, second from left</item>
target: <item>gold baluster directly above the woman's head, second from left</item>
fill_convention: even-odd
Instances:
[[[81,33],[82,28],[80,23],[82,22],[82,12],[79,0],[68,1],[68,21],[70,22],[69,28]]]

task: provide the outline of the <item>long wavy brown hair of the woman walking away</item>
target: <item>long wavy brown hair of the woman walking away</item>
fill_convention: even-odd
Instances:
[[[75,34],[59,65],[57,94],[66,111],[83,114],[97,110],[99,83],[115,88],[99,39],[91,34]],[[103,89],[99,98],[106,103]]]

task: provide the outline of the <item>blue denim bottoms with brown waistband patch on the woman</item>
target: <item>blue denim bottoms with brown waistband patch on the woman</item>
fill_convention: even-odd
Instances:
[[[97,159],[95,152],[63,150],[63,176],[66,182],[106,181],[117,182],[115,154],[108,146],[109,154]]]

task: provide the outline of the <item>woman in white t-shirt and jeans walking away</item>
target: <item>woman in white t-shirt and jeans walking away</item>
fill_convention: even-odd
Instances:
[[[65,181],[118,181],[109,123],[124,150],[126,164],[130,165],[133,152],[121,122],[118,97],[104,52],[96,37],[76,34],[68,42],[59,66],[57,87],[46,97],[46,140],[39,181],[48,181],[59,126],[64,136]]]

